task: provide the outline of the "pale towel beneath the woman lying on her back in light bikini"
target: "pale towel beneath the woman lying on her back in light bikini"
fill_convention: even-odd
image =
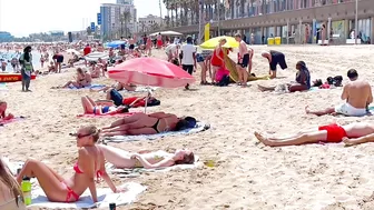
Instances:
[[[165,152],[165,151],[157,151],[157,152]],[[106,163],[106,169],[107,171],[110,171],[111,173],[118,174],[120,178],[134,178],[134,177],[140,176],[141,173],[147,173],[147,172],[167,172],[167,171],[173,171],[173,170],[187,170],[187,169],[200,168],[203,166],[204,163],[200,162],[199,157],[195,154],[194,164],[175,164],[173,167],[165,167],[165,168],[158,168],[158,169],[145,169],[145,168],[118,169],[111,163]]]

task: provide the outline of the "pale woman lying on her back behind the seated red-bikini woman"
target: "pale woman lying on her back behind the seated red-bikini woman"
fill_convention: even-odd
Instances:
[[[104,153],[105,159],[116,168],[145,168],[157,169],[173,167],[175,164],[194,164],[195,154],[188,150],[177,150],[175,153],[165,151],[139,151],[128,152],[110,146],[98,146]]]

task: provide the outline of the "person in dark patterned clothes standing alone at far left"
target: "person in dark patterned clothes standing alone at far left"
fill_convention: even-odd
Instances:
[[[23,49],[23,53],[21,54],[19,61],[21,63],[22,91],[31,92],[31,90],[29,89],[31,73],[33,72],[31,46],[28,46]]]

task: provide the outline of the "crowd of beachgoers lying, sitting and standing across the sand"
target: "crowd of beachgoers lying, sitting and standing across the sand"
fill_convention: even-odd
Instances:
[[[253,76],[253,57],[254,50],[248,48],[242,39],[242,34],[235,34],[235,40],[238,42],[238,54],[236,71],[238,74],[237,84],[245,88],[249,77]],[[150,54],[152,47],[151,40],[144,37],[144,46],[146,52]],[[187,37],[186,44],[180,44],[179,38],[174,43],[167,46],[163,42],[160,34],[156,38],[156,48],[164,49],[166,52],[166,59],[181,69],[193,74],[196,71],[197,63],[201,68],[201,86],[216,84],[228,77],[224,73],[223,77],[218,74],[226,69],[227,56],[233,52],[232,48],[226,48],[227,40],[220,39],[217,47],[214,50],[204,50],[197,53],[197,48],[194,46],[191,37]],[[128,38],[128,49],[119,49],[118,56],[114,52],[115,49],[109,49],[108,61],[98,59],[97,61],[85,61],[80,63],[80,67],[76,69],[76,78],[68,81],[58,88],[86,88],[90,87],[92,79],[105,76],[107,68],[110,64],[119,64],[126,59],[141,57],[139,48],[136,47],[136,42],[132,38]],[[98,52],[102,52],[101,44],[92,44]],[[83,48],[83,57],[92,52],[91,44],[87,43]],[[80,44],[82,47],[82,44]],[[41,51],[43,49],[40,49]],[[31,46],[27,46],[23,49],[23,53],[20,54],[19,62],[22,74],[22,91],[30,91],[30,76],[35,71],[32,66],[32,49]],[[48,62],[48,53],[42,56],[40,62]],[[121,54],[121,56],[120,56]],[[75,54],[75,62],[79,61],[78,54]],[[266,59],[269,66],[268,77],[276,78],[277,66],[280,69],[287,69],[286,57],[283,52],[269,50],[264,51],[260,56]],[[52,60],[53,71],[61,72],[61,63],[63,62],[63,56],[56,51]],[[75,63],[72,62],[72,64]],[[90,70],[85,70],[85,67],[89,67]],[[318,81],[311,81],[311,72],[305,61],[298,61],[295,69],[297,70],[295,81],[283,84],[284,89],[288,92],[307,91]],[[211,71],[213,70],[213,71]],[[210,82],[207,81],[207,73],[209,72]],[[362,117],[368,114],[368,104],[373,102],[373,96],[371,86],[365,80],[358,79],[358,72],[354,69],[348,70],[347,77],[350,82],[344,86],[342,92],[342,100],[345,103],[335,108],[326,108],[325,110],[312,111],[308,107],[305,108],[306,114],[344,114],[352,117]],[[217,79],[218,78],[218,79]],[[328,81],[329,82],[329,81]],[[327,83],[328,83],[327,82]],[[338,78],[335,79],[335,86],[339,86]],[[313,84],[312,84],[313,83]],[[318,87],[323,87],[325,83],[319,82]],[[186,84],[186,89],[189,89],[189,84]],[[275,91],[278,86],[265,87],[258,86],[260,91]],[[118,113],[129,113],[129,109],[142,103],[151,103],[151,97],[137,98],[130,103],[126,102],[124,97],[118,92],[120,90],[134,91],[135,84],[116,82],[111,87],[104,87],[98,91],[106,91],[106,99],[95,101],[90,97],[81,97],[81,106],[85,114],[98,114],[110,116]],[[91,90],[95,91],[95,90]],[[156,100],[154,98],[154,100]],[[159,104],[159,103],[158,103]],[[7,102],[0,101],[0,122],[3,120],[10,120],[14,118],[12,113],[7,112]],[[168,131],[180,131],[196,126],[196,119],[191,117],[177,117],[173,113],[156,112],[156,113],[129,113],[119,120],[114,121],[107,127],[101,129],[95,126],[88,126],[80,128],[76,133],[71,133],[77,140],[78,161],[73,164],[73,176],[70,179],[65,179],[59,176],[53,169],[48,167],[41,161],[29,159],[24,162],[22,169],[18,174],[11,174],[3,161],[0,161],[0,190],[7,193],[0,193],[0,201],[8,202],[9,200],[18,199],[21,194],[19,184],[24,177],[37,178],[40,187],[43,189],[47,198],[50,201],[56,202],[75,202],[79,200],[79,197],[89,189],[94,202],[98,201],[95,178],[102,178],[108,187],[114,192],[122,192],[126,189],[117,188],[109,178],[105,162],[108,161],[117,168],[164,168],[175,164],[191,164],[195,162],[195,156],[189,150],[177,150],[174,153],[165,151],[138,151],[129,152],[118,148],[97,144],[100,137],[114,137],[114,136],[138,136],[138,134],[157,134]],[[318,142],[344,142],[348,146],[374,142],[374,124],[370,123],[352,123],[346,126],[339,126],[336,123],[321,126],[317,129],[311,131],[297,133],[292,137],[278,138],[266,137],[259,132],[255,132],[255,137],[265,146],[280,147],[280,146],[295,146],[304,143],[318,143]],[[14,179],[14,176],[17,177]],[[0,203],[1,203],[0,202]]]

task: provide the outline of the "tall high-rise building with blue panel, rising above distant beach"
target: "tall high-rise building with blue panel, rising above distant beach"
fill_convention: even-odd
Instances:
[[[120,0],[118,0],[120,1]],[[104,3],[100,7],[102,37],[119,39],[122,36],[130,36],[137,31],[137,10],[130,0],[122,0],[124,3]]]

